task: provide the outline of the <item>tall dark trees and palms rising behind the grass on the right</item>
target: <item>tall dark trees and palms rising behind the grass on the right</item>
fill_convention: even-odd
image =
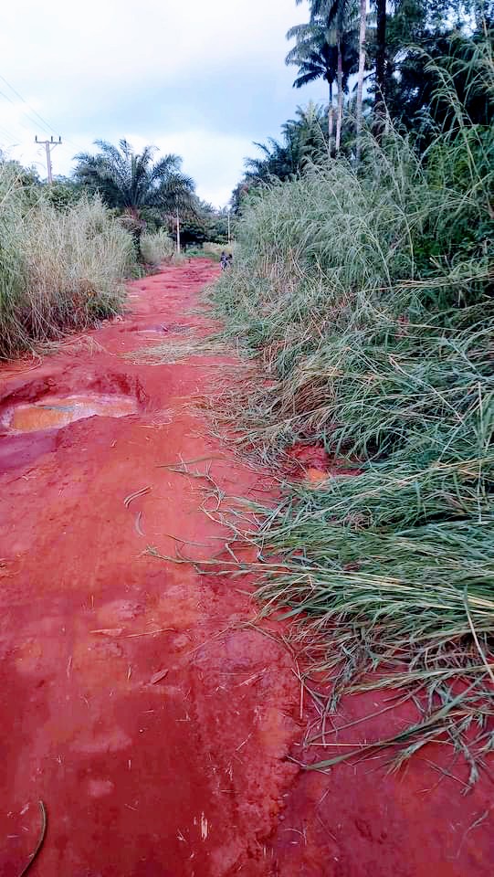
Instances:
[[[253,185],[289,179],[328,154],[358,163],[363,126],[382,136],[400,126],[424,151],[450,114],[426,74],[431,60],[449,58],[447,75],[470,118],[489,125],[493,96],[469,87],[468,68],[478,43],[492,44],[493,26],[493,0],[370,0],[369,7],[366,0],[309,0],[309,20],[287,34],[294,45],[286,63],[297,68],[296,89],[325,82],[327,107],[299,107],[278,140],[255,144],[260,155],[246,160],[233,206]]]

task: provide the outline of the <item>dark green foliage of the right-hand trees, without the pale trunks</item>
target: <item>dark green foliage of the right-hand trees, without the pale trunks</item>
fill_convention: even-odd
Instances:
[[[301,2],[301,0],[300,0]],[[294,81],[296,88],[316,79],[325,79],[332,87],[337,79],[338,47],[342,55],[342,90],[346,92],[349,76],[358,68],[357,29],[358,3],[353,0],[310,0],[310,20],[292,27],[287,35],[295,38],[295,46],[286,58],[288,64],[299,68]],[[492,69],[492,28],[494,3],[492,0],[395,0],[386,5],[384,0],[373,0],[371,14],[366,22],[366,69],[368,94],[364,100],[367,127],[374,132],[385,132],[392,124],[403,124],[414,132],[415,146],[425,151],[436,139],[438,128],[455,125],[455,107],[441,94],[457,94],[457,101],[468,113],[471,122],[489,126],[494,113],[494,90],[486,86],[486,76]],[[445,58],[447,63],[445,64]],[[443,89],[437,90],[437,78],[430,75],[427,65],[439,64],[442,69]],[[484,77],[470,76],[475,67],[483,69]],[[479,84],[479,88],[478,88]],[[355,119],[353,98],[346,108],[339,107],[342,134],[338,151],[355,160]],[[339,98],[340,102],[340,98]],[[288,125],[290,122],[287,123]],[[320,113],[321,136],[326,138],[328,122]],[[331,124],[330,124],[331,128]],[[297,135],[297,132],[294,132]],[[268,139],[259,146],[264,153],[260,158],[249,158],[246,174],[232,195],[233,209],[238,212],[247,192],[259,182],[272,177],[281,180],[298,174],[307,164],[321,162],[321,136],[308,143],[300,154],[292,144],[291,132],[282,130],[282,139]],[[331,151],[332,151],[331,143]],[[338,146],[338,143],[337,143]]]

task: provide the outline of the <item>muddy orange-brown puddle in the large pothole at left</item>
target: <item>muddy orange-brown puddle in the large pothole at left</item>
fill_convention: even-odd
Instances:
[[[40,402],[21,403],[5,412],[3,424],[13,432],[59,429],[83,417],[127,417],[137,413],[129,396],[44,396]]]

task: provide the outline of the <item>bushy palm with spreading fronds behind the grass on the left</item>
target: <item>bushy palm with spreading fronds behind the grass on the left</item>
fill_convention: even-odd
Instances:
[[[89,191],[99,192],[108,206],[121,211],[138,248],[146,215],[154,213],[163,219],[180,208],[194,209],[194,182],[182,173],[178,155],[170,153],[153,162],[154,146],[134,153],[126,140],[118,147],[104,140],[95,141],[95,145],[99,153],[76,155],[76,179]]]

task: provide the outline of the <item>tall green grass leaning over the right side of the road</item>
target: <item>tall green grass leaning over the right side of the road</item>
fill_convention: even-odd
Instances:
[[[489,51],[477,60],[491,93]],[[213,292],[267,378],[220,396],[234,440],[275,463],[316,443],[355,466],[287,484],[241,525],[235,512],[259,596],[298,621],[333,706],[366,687],[428,692],[386,741],[406,754],[445,732],[463,752],[494,745],[494,130],[468,120],[447,65],[427,73],[451,110],[427,152],[368,134],[358,168],[256,193]]]

